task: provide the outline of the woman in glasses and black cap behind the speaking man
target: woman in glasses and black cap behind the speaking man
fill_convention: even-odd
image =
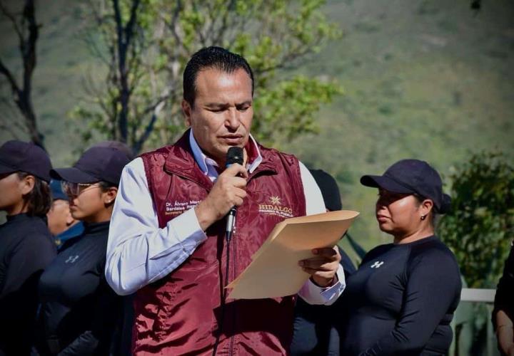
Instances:
[[[66,241],[39,282],[42,303],[36,348],[41,355],[108,355],[121,300],[104,278],[109,221],[121,170],[129,159],[92,147],[71,168],[54,169],[84,233]]]

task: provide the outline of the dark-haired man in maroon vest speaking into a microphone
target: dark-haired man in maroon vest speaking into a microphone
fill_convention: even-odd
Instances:
[[[283,219],[325,211],[321,192],[296,157],[250,135],[253,73],[219,47],[195,53],[183,73],[191,127],[174,145],[141,155],[121,176],[107,246],[106,278],[136,292],[136,355],[284,355],[294,297],[226,299],[224,287]],[[226,167],[230,147],[243,164]],[[237,207],[231,239],[226,215]],[[273,209],[270,209],[273,206]],[[311,274],[299,295],[331,304],[344,288],[337,248],[298,261]]]

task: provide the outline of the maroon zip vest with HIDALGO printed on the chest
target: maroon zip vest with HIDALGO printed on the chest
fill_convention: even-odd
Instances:
[[[211,225],[208,239],[167,276],[138,290],[134,302],[133,352],[137,355],[284,355],[293,331],[294,297],[231,300],[221,306],[226,252],[228,281],[283,219],[306,214],[298,159],[259,147],[263,161],[248,179],[231,242],[225,219]],[[206,198],[213,183],[191,153],[188,132],[176,145],[141,156],[162,228]],[[221,324],[221,326],[220,326]],[[221,329],[221,330],[220,330]]]

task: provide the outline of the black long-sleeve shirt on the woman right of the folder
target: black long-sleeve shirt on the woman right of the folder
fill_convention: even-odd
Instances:
[[[460,288],[455,256],[435,236],[374,248],[347,281],[341,355],[445,355]]]

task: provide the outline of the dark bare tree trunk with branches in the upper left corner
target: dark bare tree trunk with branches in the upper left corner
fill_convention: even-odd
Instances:
[[[21,83],[18,83],[12,70],[7,68],[4,61],[0,59],[0,73],[6,78],[10,89],[12,100],[24,117],[24,125],[16,124],[15,120],[6,122],[5,114],[1,115],[0,127],[14,133],[13,126],[16,125],[21,131],[28,132],[30,140],[36,145],[44,148],[44,135],[39,131],[34,105],[32,105],[32,74],[36,68],[36,43],[39,37],[40,25],[36,21],[34,0],[26,0],[21,14],[15,14],[8,9],[4,1],[0,1],[1,15],[8,19],[16,32],[19,40],[19,50],[23,63]],[[1,98],[2,104],[9,107],[10,100]],[[14,122],[14,125],[13,125]],[[16,135],[14,135],[16,136]]]

